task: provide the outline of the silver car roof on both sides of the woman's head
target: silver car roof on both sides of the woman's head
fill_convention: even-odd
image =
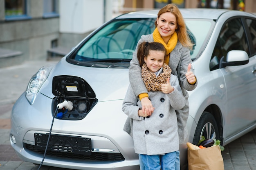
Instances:
[[[136,12],[130,12],[123,14],[117,19],[124,19],[124,18],[155,18],[157,17],[159,9],[153,9],[153,10],[148,10],[148,11],[136,11]],[[201,19],[212,19],[212,20],[218,20],[218,18],[223,14],[223,13],[232,13],[232,15],[245,15],[247,16],[254,16],[252,13],[246,13],[242,11],[235,11],[235,10],[229,10],[229,9],[205,9],[205,8],[181,8],[180,9],[182,16],[184,18],[201,18]]]

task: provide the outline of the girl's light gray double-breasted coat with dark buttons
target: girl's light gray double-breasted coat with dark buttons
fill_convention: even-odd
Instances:
[[[160,91],[148,92],[155,110],[149,118],[138,116],[141,102],[129,85],[122,110],[133,120],[133,142],[135,153],[159,155],[179,150],[179,137],[175,109],[186,104],[177,76],[171,75],[170,83],[174,91],[164,94]]]

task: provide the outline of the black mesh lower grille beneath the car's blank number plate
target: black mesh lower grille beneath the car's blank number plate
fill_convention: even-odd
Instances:
[[[36,153],[40,153],[40,154],[45,153],[45,150],[37,149],[34,145],[25,144],[25,148]],[[124,157],[121,153],[92,152],[92,154],[89,156],[89,155],[81,155],[81,154],[74,154],[74,153],[64,153],[64,152],[58,152],[58,151],[47,151],[46,155],[54,156],[54,157],[69,158],[69,159],[80,159],[85,161],[124,161]]]

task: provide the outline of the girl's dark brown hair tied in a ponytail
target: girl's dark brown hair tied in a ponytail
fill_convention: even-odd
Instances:
[[[142,67],[142,65],[145,63],[144,62],[144,57],[148,57],[149,51],[154,50],[154,51],[162,51],[164,54],[166,53],[166,49],[164,48],[164,45],[158,42],[142,42],[138,46],[137,50],[137,57],[139,60],[139,65]],[[165,57],[165,56],[164,56]]]

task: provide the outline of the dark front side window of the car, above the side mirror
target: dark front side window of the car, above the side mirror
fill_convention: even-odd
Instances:
[[[247,42],[240,18],[229,20],[220,31],[211,57],[210,70],[218,69],[220,59],[222,56],[227,57],[230,50],[244,50],[249,55]]]

